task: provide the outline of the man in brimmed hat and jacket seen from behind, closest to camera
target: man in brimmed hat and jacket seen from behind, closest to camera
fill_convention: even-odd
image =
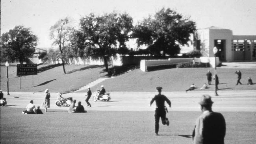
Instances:
[[[193,131],[193,144],[224,144],[226,123],[221,113],[211,110],[211,96],[202,96],[199,104],[202,114],[197,118]]]

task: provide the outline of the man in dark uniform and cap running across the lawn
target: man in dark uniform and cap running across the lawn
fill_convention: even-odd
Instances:
[[[169,120],[168,118],[166,118],[166,107],[165,107],[165,101],[169,104],[169,107],[171,107],[171,101],[165,96],[161,94],[162,91],[162,87],[156,87],[158,94],[154,96],[154,98],[152,98],[152,100],[150,101],[150,105],[152,105],[152,103],[154,101],[156,101],[156,110],[155,110],[155,133],[156,135],[158,135],[158,131],[159,131],[159,119],[161,117],[162,120],[162,124],[163,125],[167,125],[169,126]]]

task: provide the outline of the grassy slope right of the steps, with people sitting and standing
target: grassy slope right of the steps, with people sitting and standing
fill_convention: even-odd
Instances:
[[[213,68],[171,68],[165,70],[157,70],[152,72],[142,72],[140,69],[132,70],[128,73],[117,76],[116,78],[108,79],[96,85],[94,88],[99,88],[100,85],[105,85],[107,91],[155,91],[155,87],[162,86],[164,91],[185,91],[194,83],[199,87],[195,91],[200,90],[204,83],[208,83],[206,78],[207,70],[210,69],[214,74]],[[234,68],[217,68],[219,76],[220,90],[256,90],[256,84],[246,85],[247,77],[251,77],[256,83],[256,69],[243,68],[241,83],[236,85],[237,74]],[[208,90],[215,90],[215,81],[210,85]]]

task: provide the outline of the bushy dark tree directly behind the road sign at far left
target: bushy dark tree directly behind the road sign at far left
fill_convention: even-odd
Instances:
[[[37,46],[37,36],[33,35],[30,28],[15,26],[13,30],[1,36],[1,59],[9,59],[12,62],[19,59],[22,64],[34,54],[35,46]]]

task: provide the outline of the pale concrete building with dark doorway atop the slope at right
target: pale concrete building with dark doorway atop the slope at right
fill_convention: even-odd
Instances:
[[[214,57],[216,46],[220,61],[256,61],[256,35],[233,35],[232,30],[211,26],[197,30],[196,38],[196,48],[204,57]]]

